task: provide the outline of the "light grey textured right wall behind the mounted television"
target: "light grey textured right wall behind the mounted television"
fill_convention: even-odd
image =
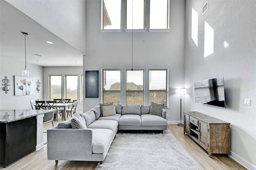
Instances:
[[[230,124],[231,156],[256,169],[256,1],[186,1],[185,110]],[[198,13],[198,47],[191,38],[191,10]],[[204,22],[214,29],[214,53],[204,57]],[[224,47],[224,41],[228,47]],[[226,109],[194,102],[194,81],[224,76]],[[251,106],[244,105],[251,99]]]

